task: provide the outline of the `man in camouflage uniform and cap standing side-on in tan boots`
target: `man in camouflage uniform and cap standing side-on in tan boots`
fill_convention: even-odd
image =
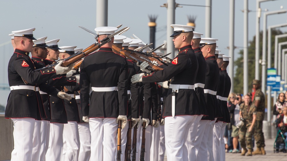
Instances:
[[[265,115],[265,96],[261,91],[261,84],[259,80],[253,80],[253,88],[255,88],[255,95],[253,98],[252,105],[256,107],[257,115],[256,115],[256,122],[255,122],[255,130],[254,130],[254,139],[256,140],[257,149],[253,152],[253,155],[256,154],[263,154],[265,155],[266,152],[264,150],[265,141],[262,132],[263,128],[263,119]]]

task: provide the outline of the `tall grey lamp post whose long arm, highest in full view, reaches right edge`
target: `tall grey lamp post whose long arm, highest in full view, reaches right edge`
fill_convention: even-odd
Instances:
[[[279,13],[286,13],[286,9],[281,9],[277,11],[269,11],[264,13],[263,17],[263,44],[262,44],[262,92],[265,92],[266,89],[266,25],[267,25],[267,16],[268,15],[274,15],[274,14],[279,14]]]

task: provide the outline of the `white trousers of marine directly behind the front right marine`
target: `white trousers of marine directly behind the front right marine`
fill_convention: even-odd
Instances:
[[[187,147],[188,150],[188,160],[189,161],[196,161],[195,157],[195,138],[196,138],[196,133],[197,133],[197,128],[199,121],[201,120],[203,115],[195,115],[195,118],[193,120],[193,124],[189,128],[189,132],[187,135],[187,140],[185,142],[185,146]]]

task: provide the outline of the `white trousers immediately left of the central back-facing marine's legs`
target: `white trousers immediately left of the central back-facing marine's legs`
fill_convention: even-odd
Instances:
[[[78,124],[80,151],[79,161],[89,161],[91,156],[91,132],[88,122]]]

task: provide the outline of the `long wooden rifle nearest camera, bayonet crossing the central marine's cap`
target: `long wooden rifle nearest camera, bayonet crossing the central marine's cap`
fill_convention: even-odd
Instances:
[[[79,51],[77,53],[75,53],[74,55],[71,55],[69,57],[67,57],[66,59],[61,59],[63,60],[63,63],[61,64],[62,67],[68,67],[71,64],[77,62],[78,60],[82,59],[83,57],[89,55],[90,53],[96,51],[97,49],[99,49],[102,45],[110,42],[112,40],[112,37],[117,35],[118,33],[122,32],[123,30],[125,30],[127,27],[124,27],[123,29],[115,32],[112,35],[109,35],[108,37],[105,37],[104,39],[102,39],[100,41],[100,43],[93,43],[92,45],[90,45],[88,48],[84,49],[83,51]],[[40,71],[43,69],[49,69],[49,68],[53,68],[55,67],[57,64],[59,63],[59,61],[54,62],[51,65],[48,65],[46,67],[43,67],[41,69],[36,69],[35,71]]]

